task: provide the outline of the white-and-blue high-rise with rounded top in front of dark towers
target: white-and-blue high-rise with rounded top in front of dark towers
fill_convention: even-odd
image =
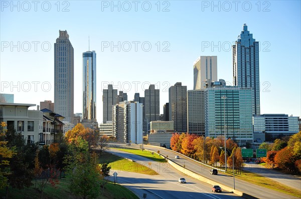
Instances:
[[[113,106],[113,136],[121,143],[142,143],[142,104],[133,101]]]

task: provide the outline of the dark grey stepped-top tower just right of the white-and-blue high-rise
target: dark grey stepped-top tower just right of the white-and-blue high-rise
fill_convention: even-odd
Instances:
[[[144,119],[147,123],[160,120],[160,89],[155,84],[144,90]]]

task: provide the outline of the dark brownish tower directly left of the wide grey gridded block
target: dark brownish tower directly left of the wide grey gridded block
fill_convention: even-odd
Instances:
[[[169,88],[169,120],[175,131],[187,132],[187,86],[181,82]]]

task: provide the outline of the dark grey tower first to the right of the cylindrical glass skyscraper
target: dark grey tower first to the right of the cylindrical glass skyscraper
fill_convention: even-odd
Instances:
[[[113,89],[113,85],[109,84],[108,89],[102,90],[102,122],[112,121],[113,105],[118,104],[117,89]]]

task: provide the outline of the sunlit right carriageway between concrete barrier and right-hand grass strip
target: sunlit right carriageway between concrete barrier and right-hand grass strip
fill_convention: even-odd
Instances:
[[[218,175],[211,175],[210,174],[210,167],[204,166],[203,164],[197,163],[194,160],[191,160],[187,158],[184,155],[181,155],[179,153],[173,152],[171,150],[167,150],[162,147],[156,147],[156,146],[150,146],[150,145],[144,145],[144,149],[151,150],[157,152],[160,150],[160,154],[167,156],[172,161],[178,163],[179,165],[184,166],[185,168],[194,171],[195,173],[198,173],[206,178],[209,178],[211,180],[217,181],[223,185],[233,187],[233,177],[229,175],[225,175],[223,172],[219,171]],[[175,156],[179,155],[180,159],[176,159]],[[235,178],[235,189],[242,191],[244,193],[247,193],[249,195],[258,197],[258,198],[298,198],[294,197],[292,195],[288,195],[282,192],[274,191],[268,188],[264,188],[252,183],[249,183],[247,181],[239,180]]]

